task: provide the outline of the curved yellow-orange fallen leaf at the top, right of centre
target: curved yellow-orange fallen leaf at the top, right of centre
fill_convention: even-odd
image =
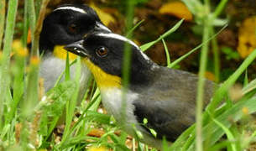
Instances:
[[[181,2],[165,3],[159,8],[159,13],[173,15],[177,18],[184,18],[186,21],[191,21],[193,19],[192,13],[186,8],[185,4]]]

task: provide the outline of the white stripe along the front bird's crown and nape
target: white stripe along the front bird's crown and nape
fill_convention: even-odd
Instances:
[[[124,42],[127,42],[128,44],[132,44],[136,49],[138,49],[138,51],[140,52],[140,54],[144,57],[145,60],[150,60],[149,57],[147,55],[145,55],[141,49],[139,49],[138,45],[133,43],[132,40],[130,39],[127,39],[126,37],[123,37],[122,35],[119,35],[119,34],[112,34],[112,33],[100,33],[100,34],[97,34],[99,36],[102,36],[102,37],[106,37],[106,38],[112,38],[112,39],[120,39]]]

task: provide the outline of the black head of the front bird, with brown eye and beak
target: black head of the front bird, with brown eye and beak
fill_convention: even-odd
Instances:
[[[131,51],[131,84],[139,84],[146,80],[152,69],[153,62],[144,55],[131,40],[112,33],[92,33],[85,39],[65,46],[65,49],[81,57],[86,57],[93,66],[99,67],[103,72],[111,76],[122,77],[125,44]],[[88,62],[88,61],[87,61]],[[125,63],[126,64],[126,63]],[[89,65],[90,68],[90,65]],[[99,75],[98,70],[91,69],[94,75]],[[102,78],[102,77],[99,77]],[[107,79],[106,79],[107,80]]]

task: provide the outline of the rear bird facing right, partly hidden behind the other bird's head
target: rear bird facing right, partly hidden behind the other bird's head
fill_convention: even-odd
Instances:
[[[39,39],[39,52],[43,54],[39,75],[44,79],[44,90],[49,91],[65,70],[66,51],[63,45],[82,39],[93,31],[107,31],[97,13],[87,5],[65,4],[44,18]],[[70,54],[70,60],[76,55]],[[81,93],[85,92],[90,71],[81,66]],[[71,78],[75,77],[76,65],[71,66]],[[82,96],[82,95],[80,95]]]

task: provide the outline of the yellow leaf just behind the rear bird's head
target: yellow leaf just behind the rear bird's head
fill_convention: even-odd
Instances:
[[[90,7],[93,8],[97,14],[99,15],[99,18],[102,20],[102,23],[104,23],[106,26],[109,23],[116,23],[116,19],[112,17],[112,15],[105,13],[102,11],[102,9],[97,8],[94,3],[90,3]]]

